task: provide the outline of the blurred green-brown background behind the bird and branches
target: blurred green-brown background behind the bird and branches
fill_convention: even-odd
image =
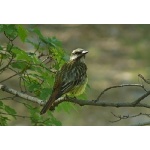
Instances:
[[[55,36],[63,44],[63,48],[70,55],[76,48],[83,48],[89,51],[86,57],[88,66],[89,85],[91,89],[86,90],[88,99],[96,99],[99,93],[107,87],[120,84],[142,83],[138,74],[150,78],[150,25],[99,25],[99,24],[60,24],[60,25],[25,25],[26,27],[39,28],[44,36]],[[6,44],[7,39],[0,34],[1,44]],[[32,50],[28,45],[22,45],[15,40],[14,44]],[[10,76],[9,72],[1,78]],[[5,85],[17,89],[16,80],[12,79]],[[149,89],[149,85],[145,85]],[[0,94],[7,96],[7,93],[0,91]],[[101,100],[112,102],[133,101],[144,94],[144,91],[137,87],[124,87],[112,89],[106,92]],[[149,102],[149,97],[144,102]],[[13,101],[12,106],[20,115],[25,115],[25,108]],[[54,112],[63,125],[132,125],[148,121],[147,117],[136,117],[119,122],[111,114],[132,115],[149,113],[146,108],[112,108],[95,106],[77,106],[77,111],[70,113]],[[12,120],[10,125],[30,125],[28,119],[17,118]]]

